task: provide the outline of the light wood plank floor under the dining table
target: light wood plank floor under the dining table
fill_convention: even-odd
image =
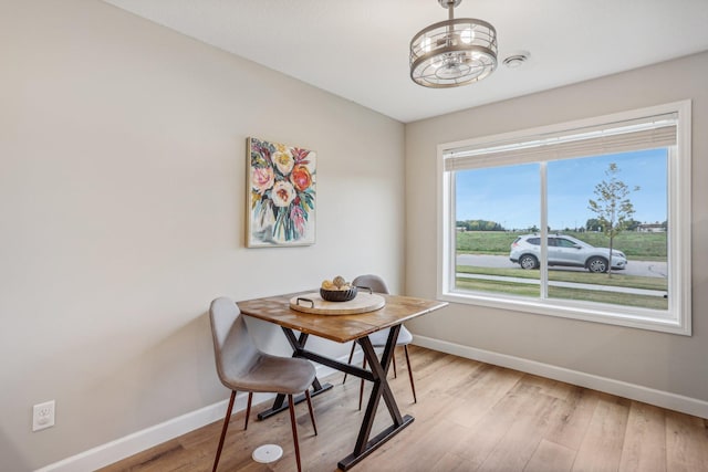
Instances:
[[[413,403],[402,354],[391,382],[402,412],[416,420],[353,471],[708,471],[708,420],[416,346]],[[326,380],[335,387],[313,399],[319,436],[306,406],[296,407],[306,471],[336,470],[362,420],[358,379]],[[253,409],[248,431],[242,411],[232,417],[219,471],[295,470],[288,413],[258,421],[254,412],[264,408]],[[378,418],[388,419],[383,401],[381,408]],[[209,424],[102,471],[209,471],[220,428]],[[251,452],[264,443],[282,445],[283,458],[253,462]]]

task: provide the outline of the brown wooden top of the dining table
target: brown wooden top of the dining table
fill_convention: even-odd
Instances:
[[[447,302],[435,300],[378,294],[386,300],[383,308],[354,315],[310,314],[290,307],[290,298],[309,292],[312,291],[247,300],[237,305],[246,315],[336,343],[358,339],[447,306]]]

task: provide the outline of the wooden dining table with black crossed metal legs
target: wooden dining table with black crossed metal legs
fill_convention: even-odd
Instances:
[[[347,310],[347,306],[353,305],[327,303],[319,297],[316,291],[237,302],[239,310],[244,315],[280,326],[292,347],[293,357],[310,359],[372,382],[371,395],[352,453],[337,463],[337,466],[343,471],[361,462],[414,421],[410,415],[400,413],[391,385],[386,379],[396,347],[396,339],[403,323],[447,305],[447,302],[383,293],[374,294],[371,291],[368,294],[360,293],[356,300],[372,301],[372,303],[360,302],[357,306],[366,306]],[[374,350],[368,336],[386,328],[391,328],[391,331],[379,357]],[[311,335],[336,343],[357,343],[362,348],[368,368],[343,363],[336,358],[308,349],[305,345]],[[331,384],[322,384],[315,378],[312,382],[311,396],[321,395],[332,388]],[[298,400],[301,401],[303,398],[304,395]],[[382,398],[391,416],[391,424],[372,437],[374,419]],[[258,415],[259,419],[266,419],[288,409],[284,400],[284,395],[277,395],[272,406]],[[377,424],[381,424],[381,422]]]

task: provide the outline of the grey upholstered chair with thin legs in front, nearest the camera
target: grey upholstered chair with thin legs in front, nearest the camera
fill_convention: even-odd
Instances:
[[[251,340],[243,316],[232,300],[221,297],[211,302],[209,308],[211,319],[211,335],[214,337],[214,354],[217,363],[217,373],[225,387],[231,390],[231,399],[223,419],[221,439],[214,459],[216,472],[219,465],[219,457],[223,448],[223,439],[229,428],[231,410],[237,391],[248,391],[248,406],[246,408],[246,424],[251,412],[251,399],[253,392],[283,394],[288,396],[290,407],[290,424],[292,439],[295,445],[295,460],[298,471],[300,466],[300,444],[298,443],[298,429],[295,427],[295,411],[293,395],[304,391],[310,409],[310,418],[314,433],[317,427],[314,421],[312,401],[310,399],[310,385],[314,381],[315,370],[312,364],[305,359],[292,357],[271,356],[262,353]]]

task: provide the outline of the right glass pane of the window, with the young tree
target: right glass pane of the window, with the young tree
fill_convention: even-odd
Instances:
[[[550,298],[668,308],[667,159],[663,148],[548,162]]]

